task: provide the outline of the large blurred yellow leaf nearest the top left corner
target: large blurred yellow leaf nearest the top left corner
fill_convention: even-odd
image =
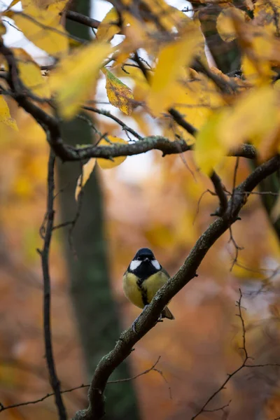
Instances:
[[[59,24],[57,11],[41,10],[30,4],[25,13],[15,13],[13,20],[29,41],[53,56],[68,51],[68,34]]]

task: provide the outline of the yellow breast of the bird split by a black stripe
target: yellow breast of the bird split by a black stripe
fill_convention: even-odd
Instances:
[[[167,274],[160,271],[144,280],[140,287],[137,284],[138,277],[131,272],[126,272],[123,276],[123,290],[130,302],[139,308],[144,308],[145,304],[151,302],[155,293],[157,293],[168,279]],[[147,302],[144,302],[145,297]]]

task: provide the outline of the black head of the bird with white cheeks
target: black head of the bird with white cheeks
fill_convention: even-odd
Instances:
[[[128,272],[134,273],[139,279],[148,279],[149,276],[162,269],[160,263],[155,259],[155,255],[149,248],[141,248],[134,255],[128,267]]]

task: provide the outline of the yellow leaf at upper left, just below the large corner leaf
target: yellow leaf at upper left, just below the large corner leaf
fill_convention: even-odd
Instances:
[[[13,48],[13,53],[18,63],[20,79],[38,97],[49,98],[50,90],[45,78],[41,74],[41,69],[22,48]]]

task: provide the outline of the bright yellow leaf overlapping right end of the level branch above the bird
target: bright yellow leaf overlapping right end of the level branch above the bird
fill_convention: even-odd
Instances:
[[[214,113],[196,137],[195,162],[207,175],[210,175],[214,167],[222,162],[227,151],[217,132],[222,116],[223,113]]]

